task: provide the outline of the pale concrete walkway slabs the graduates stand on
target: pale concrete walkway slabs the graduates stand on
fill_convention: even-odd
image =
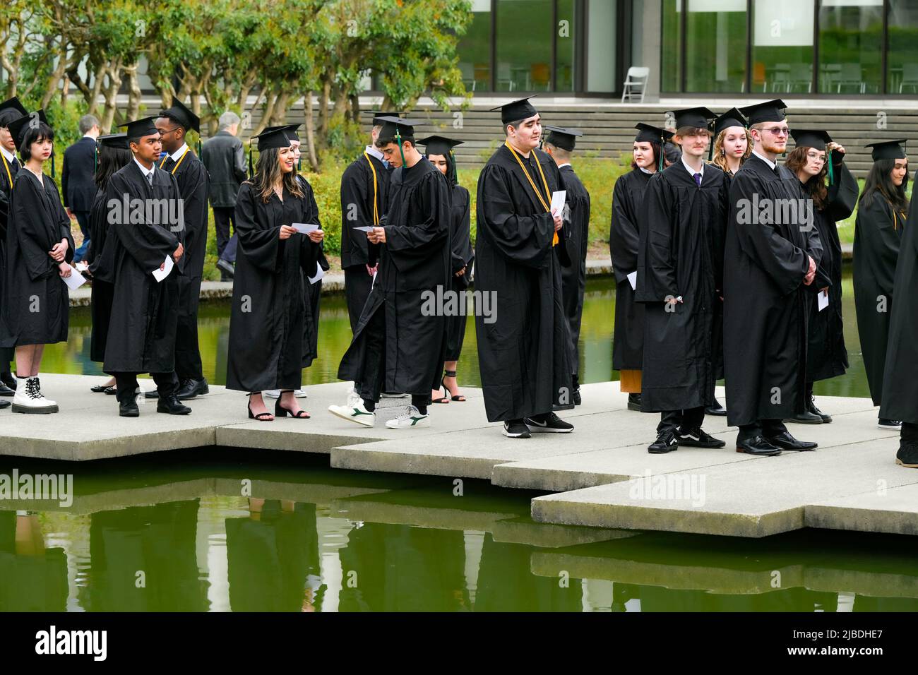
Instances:
[[[615,382],[582,387],[584,404],[562,413],[574,433],[536,433],[527,441],[505,438],[499,424],[487,423],[476,388],[464,388],[465,402],[432,406],[430,428],[396,431],[384,421],[407,399],[384,399],[374,428],[330,415],[327,407],[343,402],[347,383],[308,387],[301,405],[310,420],[251,422],[245,397],[216,386],[189,402],[187,417],[159,414],[147,401],[140,418],[122,419],[114,397],[89,392],[100,381],[42,376],[61,412],[0,412],[0,452],[81,461],[214,444],[253,454],[267,448],[327,454],[331,467],[484,478],[553,492],[532,500],[532,519],[540,523],[745,537],[807,526],[918,534],[918,471],[895,465],[898,434],[877,429],[868,399],[821,397],[834,422],[791,429],[820,444],[813,453],[738,454],[735,429],[713,418],[705,428],[726,448],[652,456],[646,445],[657,417],[628,411]]]

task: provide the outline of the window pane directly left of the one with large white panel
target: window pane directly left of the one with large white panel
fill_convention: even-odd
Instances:
[[[686,91],[744,91],[746,0],[689,0],[688,10]]]

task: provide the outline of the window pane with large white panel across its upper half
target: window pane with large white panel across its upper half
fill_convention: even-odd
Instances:
[[[813,0],[753,0],[752,87],[812,94]]]

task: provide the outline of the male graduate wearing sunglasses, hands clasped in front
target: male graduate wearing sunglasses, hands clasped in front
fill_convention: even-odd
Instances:
[[[723,256],[723,364],[727,423],[740,428],[736,451],[778,455],[813,450],[782,420],[805,407],[806,321],[823,246],[805,213],[797,176],[778,165],[789,127],[776,99],[740,108],[752,155],[730,182]]]

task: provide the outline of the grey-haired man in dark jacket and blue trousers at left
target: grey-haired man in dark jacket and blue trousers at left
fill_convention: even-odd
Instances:
[[[63,153],[61,190],[67,215],[75,218],[83,232],[83,243],[73,252],[73,264],[83,260],[89,247],[89,212],[95,197],[95,139],[99,137],[99,120],[93,115],[80,118],[80,133],[76,141]]]

